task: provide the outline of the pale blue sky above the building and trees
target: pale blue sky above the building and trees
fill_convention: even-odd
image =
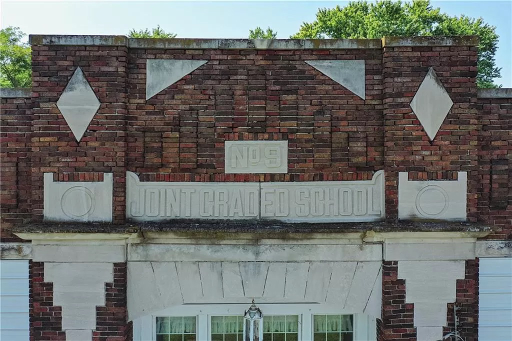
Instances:
[[[318,8],[346,1],[24,1],[0,0],[2,28],[17,26],[27,34],[127,34],[130,29],[162,29],[182,38],[246,38],[249,29],[271,27],[288,38]],[[500,36],[496,53],[501,78],[512,88],[512,0],[432,1],[450,15],[482,17]]]

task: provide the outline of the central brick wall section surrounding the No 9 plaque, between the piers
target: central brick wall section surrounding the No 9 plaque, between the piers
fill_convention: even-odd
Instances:
[[[154,58],[208,62],[146,101]],[[134,49],[127,170],[141,180],[371,179],[383,167],[381,58],[381,49]],[[365,59],[366,100],[304,62],[318,59]],[[224,174],[225,140],[288,140],[288,174]]]

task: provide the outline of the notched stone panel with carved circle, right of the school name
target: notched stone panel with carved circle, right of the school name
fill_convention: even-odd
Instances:
[[[457,181],[409,181],[398,174],[398,218],[466,220],[466,172]]]

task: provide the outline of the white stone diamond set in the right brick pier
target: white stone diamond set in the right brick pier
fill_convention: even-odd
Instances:
[[[432,141],[453,105],[450,95],[444,89],[433,68],[430,68],[421,82],[410,105],[426,135]]]

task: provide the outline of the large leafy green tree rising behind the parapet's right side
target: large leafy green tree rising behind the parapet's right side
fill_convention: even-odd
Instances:
[[[494,55],[497,50],[496,27],[482,18],[449,16],[433,8],[429,0],[350,2],[345,7],[318,9],[316,20],[303,23],[293,39],[379,39],[383,36],[476,35],[478,46],[479,88],[497,88],[493,78],[500,77]]]

